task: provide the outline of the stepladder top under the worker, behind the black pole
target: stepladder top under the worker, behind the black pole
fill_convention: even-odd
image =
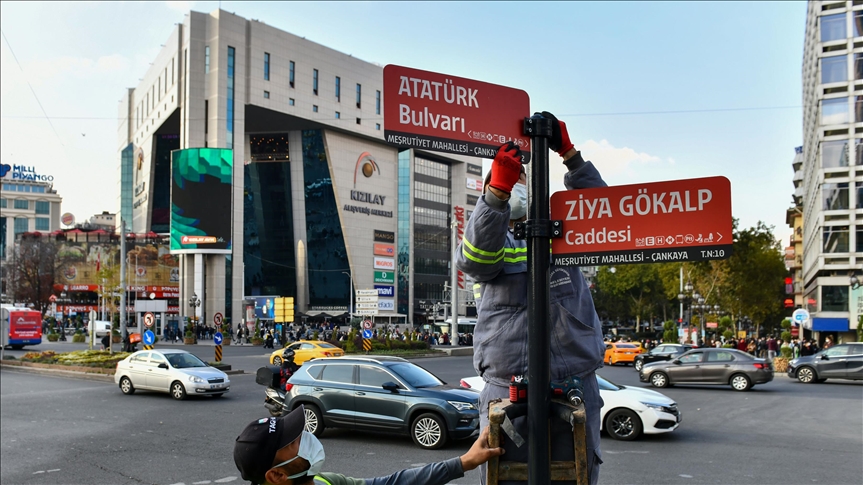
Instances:
[[[488,405],[489,436],[488,444],[492,448],[500,446],[501,425],[506,418],[506,409],[512,405],[509,399],[496,399]],[[572,440],[575,450],[572,461],[552,461],[551,479],[553,481],[569,480],[578,485],[587,485],[587,443],[584,425],[587,421],[584,403],[573,406],[569,402],[560,399],[552,399],[552,406],[561,409],[561,406],[570,413],[566,416],[567,424],[572,425]],[[549,413],[550,419],[563,419],[561,413]],[[503,461],[500,457],[494,457],[488,461],[488,472],[486,485],[498,485],[501,480],[527,481],[527,463]]]

